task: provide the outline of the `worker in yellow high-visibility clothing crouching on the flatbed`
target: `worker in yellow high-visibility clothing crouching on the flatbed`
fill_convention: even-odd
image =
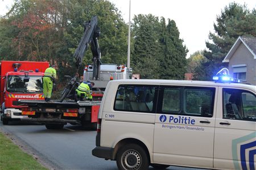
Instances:
[[[92,87],[94,83],[82,82],[76,89],[75,100],[91,100],[92,101]]]

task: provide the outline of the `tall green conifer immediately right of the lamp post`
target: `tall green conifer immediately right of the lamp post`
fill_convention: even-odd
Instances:
[[[151,14],[134,16],[134,50],[131,53],[131,66],[141,78],[159,78],[159,22]]]

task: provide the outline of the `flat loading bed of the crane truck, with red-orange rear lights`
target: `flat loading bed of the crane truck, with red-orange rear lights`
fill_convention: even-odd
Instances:
[[[96,123],[101,101],[75,100],[18,100],[18,105],[27,105],[22,108],[23,121],[41,122],[44,124],[84,125]]]

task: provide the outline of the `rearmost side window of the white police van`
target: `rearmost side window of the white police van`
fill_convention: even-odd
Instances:
[[[123,84],[115,95],[115,111],[149,112],[155,108],[157,86]]]

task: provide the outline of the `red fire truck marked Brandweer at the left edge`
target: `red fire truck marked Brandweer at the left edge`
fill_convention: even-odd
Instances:
[[[48,67],[49,62],[0,62],[0,114],[3,125],[24,117],[20,110],[23,106],[18,106],[19,99],[44,99],[42,76]]]

